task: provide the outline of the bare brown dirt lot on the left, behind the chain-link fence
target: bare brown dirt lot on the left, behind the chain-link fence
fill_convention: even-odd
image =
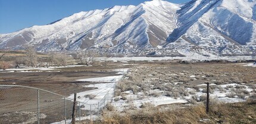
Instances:
[[[34,72],[0,72],[0,84],[15,84],[41,88],[62,96],[92,90],[93,87],[82,87],[93,82],[79,82],[84,78],[107,77],[117,75],[113,69],[130,68],[122,64],[110,63],[105,66],[79,66],[58,68],[52,72],[32,70]],[[36,123],[38,91],[29,88],[5,87],[0,89],[0,123],[27,122]],[[66,100],[67,119],[71,119],[73,103]],[[64,120],[64,100],[60,96],[40,92],[40,123],[52,123]],[[82,111],[82,115],[88,112]],[[46,116],[45,116],[46,115]]]

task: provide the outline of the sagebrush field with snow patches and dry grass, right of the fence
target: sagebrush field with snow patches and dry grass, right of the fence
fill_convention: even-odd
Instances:
[[[237,63],[140,63],[118,82],[101,123],[255,123],[255,77],[256,68]]]

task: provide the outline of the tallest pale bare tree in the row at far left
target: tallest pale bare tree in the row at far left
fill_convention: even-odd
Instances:
[[[38,55],[36,54],[36,50],[32,46],[27,46],[25,50],[26,59],[29,62],[29,65],[35,67],[36,63],[38,62]]]

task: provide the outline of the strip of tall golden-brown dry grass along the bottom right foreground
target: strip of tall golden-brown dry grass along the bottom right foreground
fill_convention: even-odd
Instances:
[[[213,104],[210,113],[205,113],[205,106],[186,107],[185,109],[167,109],[152,107],[150,104],[141,110],[132,112],[104,112],[104,124],[171,124],[171,123],[256,123],[256,103],[250,101],[233,104]],[[205,120],[204,120],[205,119]],[[202,121],[204,120],[204,121]]]

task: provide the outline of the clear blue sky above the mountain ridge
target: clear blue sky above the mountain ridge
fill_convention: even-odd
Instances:
[[[45,25],[80,11],[139,5],[150,0],[0,0],[0,34]],[[190,0],[167,0],[176,4]]]

